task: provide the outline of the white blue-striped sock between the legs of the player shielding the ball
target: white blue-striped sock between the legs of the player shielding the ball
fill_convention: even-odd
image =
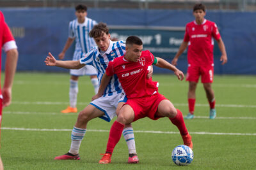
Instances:
[[[135,146],[135,140],[134,140],[134,133],[132,127],[127,127],[123,130],[123,136],[127,143],[129,153],[136,153],[136,146]]]

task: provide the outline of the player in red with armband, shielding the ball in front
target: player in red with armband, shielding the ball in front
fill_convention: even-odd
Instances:
[[[178,127],[184,145],[193,148],[191,136],[188,133],[181,111],[177,110],[168,99],[158,93],[157,82],[152,81],[152,78],[147,78],[148,70],[152,64],[172,70],[179,80],[183,80],[184,74],[166,60],[154,57],[148,50],[142,51],[143,43],[136,36],[129,36],[125,45],[125,55],[109,62],[106,73],[102,77],[99,92],[93,96],[93,99],[102,96],[113,74],[116,74],[127,95],[127,102],[122,106],[110,129],[107,150],[99,163],[109,164],[111,162],[111,155],[122,135],[124,125],[144,117],[152,120],[168,117]]]

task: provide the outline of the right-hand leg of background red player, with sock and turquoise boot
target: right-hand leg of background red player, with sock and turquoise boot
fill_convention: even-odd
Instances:
[[[216,110],[215,110],[214,91],[212,90],[212,83],[204,83],[204,90],[210,105],[209,118],[214,119],[216,117]]]

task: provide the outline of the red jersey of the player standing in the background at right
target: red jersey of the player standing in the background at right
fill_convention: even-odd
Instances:
[[[188,43],[188,64],[191,66],[213,66],[214,39],[220,39],[220,32],[214,22],[204,20],[186,25],[184,41]]]

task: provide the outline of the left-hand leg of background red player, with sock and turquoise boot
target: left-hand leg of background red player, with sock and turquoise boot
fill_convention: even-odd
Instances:
[[[195,101],[196,101],[196,85],[195,81],[189,81],[189,90],[188,90],[188,108],[189,113],[186,119],[194,118],[194,110],[195,110]]]

